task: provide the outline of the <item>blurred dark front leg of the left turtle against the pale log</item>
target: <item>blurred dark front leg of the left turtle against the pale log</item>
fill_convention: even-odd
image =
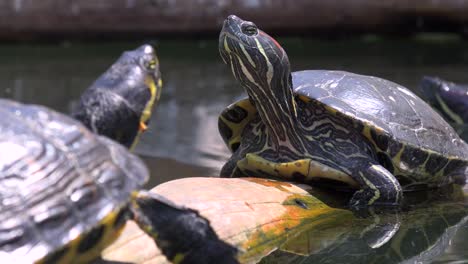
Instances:
[[[197,211],[156,193],[139,191],[130,204],[133,219],[174,263],[238,263],[237,249],[219,239]]]

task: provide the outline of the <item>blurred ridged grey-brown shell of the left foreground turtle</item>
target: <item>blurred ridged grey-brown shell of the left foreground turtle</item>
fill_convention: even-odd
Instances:
[[[86,254],[146,182],[143,162],[45,107],[0,99],[0,116],[0,259]]]

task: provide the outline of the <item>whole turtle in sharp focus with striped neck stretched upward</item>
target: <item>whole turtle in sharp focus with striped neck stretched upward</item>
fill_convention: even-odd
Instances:
[[[354,190],[356,209],[398,207],[403,191],[465,182],[468,145],[402,85],[345,71],[291,73],[280,44],[234,15],[219,51],[248,95],[218,119],[233,153],[221,177]]]

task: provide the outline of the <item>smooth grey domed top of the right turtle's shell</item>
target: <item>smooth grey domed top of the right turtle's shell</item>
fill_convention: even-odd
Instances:
[[[427,103],[407,88],[378,77],[343,71],[293,74],[295,93],[320,101],[390,140],[453,158],[466,158],[467,145]]]

